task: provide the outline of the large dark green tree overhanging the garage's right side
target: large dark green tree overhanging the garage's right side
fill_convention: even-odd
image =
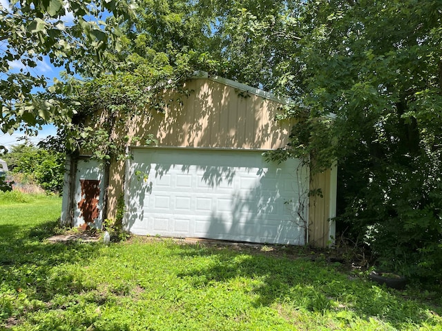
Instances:
[[[234,1],[233,1],[234,2]],[[437,279],[442,257],[439,1],[242,1],[218,30],[227,72],[302,119],[271,159],[338,160],[341,225],[379,263]],[[269,10],[268,10],[269,9]],[[332,112],[332,121],[327,115]],[[344,222],[344,223],[343,223]]]

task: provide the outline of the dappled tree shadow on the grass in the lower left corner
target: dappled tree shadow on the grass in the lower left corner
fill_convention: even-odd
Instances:
[[[98,282],[87,274],[102,246],[46,241],[57,227],[57,220],[34,227],[0,225],[0,252],[6,256],[0,263],[0,330],[29,325],[38,330],[86,330],[91,325],[102,325],[94,330],[130,330],[124,321],[84,311],[90,303],[115,300],[97,290]]]

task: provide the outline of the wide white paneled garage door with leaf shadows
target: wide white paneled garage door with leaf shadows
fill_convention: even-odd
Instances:
[[[134,148],[126,229],[134,234],[305,243],[307,170],[261,152]],[[145,174],[147,174],[147,179]],[[301,204],[302,205],[302,204]]]

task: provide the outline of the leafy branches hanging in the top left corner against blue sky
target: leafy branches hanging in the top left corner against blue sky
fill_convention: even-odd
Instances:
[[[31,74],[44,56],[68,73],[92,77],[113,68],[113,52],[119,50],[119,34],[105,12],[128,17],[132,5],[126,1],[102,0],[12,0],[0,6],[0,129],[32,132],[48,122],[68,123],[73,105],[61,99],[45,99],[35,88],[46,88],[42,75]],[[72,23],[63,21],[65,14]],[[11,63],[21,66],[10,70]],[[52,87],[56,90],[57,84]]]

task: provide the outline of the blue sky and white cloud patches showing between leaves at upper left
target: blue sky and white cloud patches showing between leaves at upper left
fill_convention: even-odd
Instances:
[[[8,8],[9,3],[8,0],[0,0],[0,5],[3,6],[3,8]],[[68,8],[68,1],[66,1],[65,8]],[[73,16],[71,13],[68,12],[66,16],[61,17],[63,21],[65,21],[67,24],[73,21]],[[4,44],[3,44],[4,45]],[[6,45],[7,47],[7,45]],[[24,68],[23,64],[20,61],[11,61],[9,63],[10,71],[11,72],[18,72],[21,68],[24,70],[29,70],[30,74],[32,76],[35,75],[44,75],[48,78],[49,86],[50,83],[53,81],[53,79],[60,77],[60,72],[63,68],[55,68],[52,66],[50,61],[48,60],[48,57],[44,57],[43,61],[37,61],[37,67],[35,68]],[[39,130],[39,134],[37,137],[28,137],[29,141],[32,143],[38,143],[39,141],[46,139],[48,136],[53,136],[57,134],[57,128],[52,125],[44,126],[42,130]],[[22,139],[23,133],[22,132],[14,132],[11,134],[3,134],[3,132],[0,132],[0,146],[5,146],[6,148],[10,148],[12,145],[17,145],[19,143],[23,143],[20,139]]]

